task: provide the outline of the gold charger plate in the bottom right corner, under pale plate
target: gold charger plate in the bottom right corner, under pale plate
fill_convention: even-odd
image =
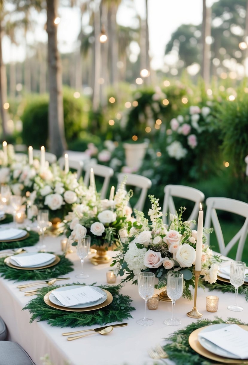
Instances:
[[[210,324],[211,326],[211,324]],[[243,328],[244,330],[248,331],[248,326],[245,326],[244,324],[238,324],[239,327]],[[203,346],[201,346],[200,342],[198,341],[198,334],[203,330],[203,328],[206,328],[209,326],[204,326],[201,328],[197,328],[197,330],[193,331],[189,335],[189,346],[197,352],[197,354],[200,354],[201,356],[204,356],[210,360],[219,361],[224,364],[248,364],[248,359],[242,360],[242,359],[229,359],[227,357],[216,355],[206,349],[204,349]]]

